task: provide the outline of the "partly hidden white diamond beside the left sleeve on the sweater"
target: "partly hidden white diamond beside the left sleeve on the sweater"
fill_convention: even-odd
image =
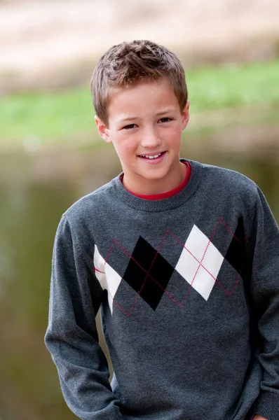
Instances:
[[[100,281],[102,289],[108,291],[108,300],[109,307],[111,309],[111,314],[114,304],[114,295],[118,289],[119,284],[121,283],[121,276],[102,258],[97,245],[95,245],[94,251],[94,267],[95,267],[95,276]]]

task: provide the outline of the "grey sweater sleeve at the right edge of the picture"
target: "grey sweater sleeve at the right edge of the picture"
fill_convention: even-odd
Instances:
[[[262,367],[255,414],[279,420],[279,230],[259,188],[251,236],[254,255],[250,290]]]

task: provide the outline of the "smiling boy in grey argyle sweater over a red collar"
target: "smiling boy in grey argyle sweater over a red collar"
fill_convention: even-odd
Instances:
[[[163,46],[110,48],[91,90],[123,173],[57,228],[46,346],[69,408],[83,420],[278,420],[279,232],[264,195],[179,158],[189,102]]]

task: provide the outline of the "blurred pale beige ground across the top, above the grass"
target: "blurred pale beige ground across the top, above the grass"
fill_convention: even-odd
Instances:
[[[279,52],[277,0],[0,0],[0,94],[86,80],[97,57],[148,38],[187,66]]]

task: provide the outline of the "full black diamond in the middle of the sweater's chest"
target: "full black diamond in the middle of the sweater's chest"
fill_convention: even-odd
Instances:
[[[140,296],[155,311],[165,288],[168,286],[173,270],[174,268],[168,261],[157,253],[156,249],[143,237],[140,237],[132,252],[132,258],[123,279],[137,293],[141,290]]]

